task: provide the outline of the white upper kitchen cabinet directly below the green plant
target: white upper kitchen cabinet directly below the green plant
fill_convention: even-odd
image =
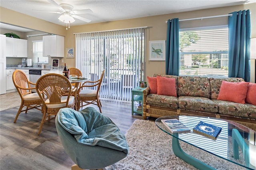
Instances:
[[[28,57],[28,40],[6,37],[6,57]]]

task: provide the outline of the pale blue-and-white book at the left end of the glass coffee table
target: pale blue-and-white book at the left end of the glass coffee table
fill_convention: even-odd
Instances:
[[[186,127],[178,119],[161,119],[161,121],[172,133],[190,132],[190,128]]]

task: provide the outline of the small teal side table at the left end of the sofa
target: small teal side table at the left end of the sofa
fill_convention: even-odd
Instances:
[[[132,115],[134,113],[142,115],[143,111],[143,90],[146,88],[142,88],[140,86],[132,89]],[[141,111],[137,111],[136,106],[141,106]]]

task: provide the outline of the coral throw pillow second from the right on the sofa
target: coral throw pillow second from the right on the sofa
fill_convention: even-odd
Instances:
[[[217,99],[244,104],[248,85],[249,82],[234,83],[222,80]]]

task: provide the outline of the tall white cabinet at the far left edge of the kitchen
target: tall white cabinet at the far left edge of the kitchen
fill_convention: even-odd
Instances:
[[[6,36],[0,35],[0,95],[6,93]]]

